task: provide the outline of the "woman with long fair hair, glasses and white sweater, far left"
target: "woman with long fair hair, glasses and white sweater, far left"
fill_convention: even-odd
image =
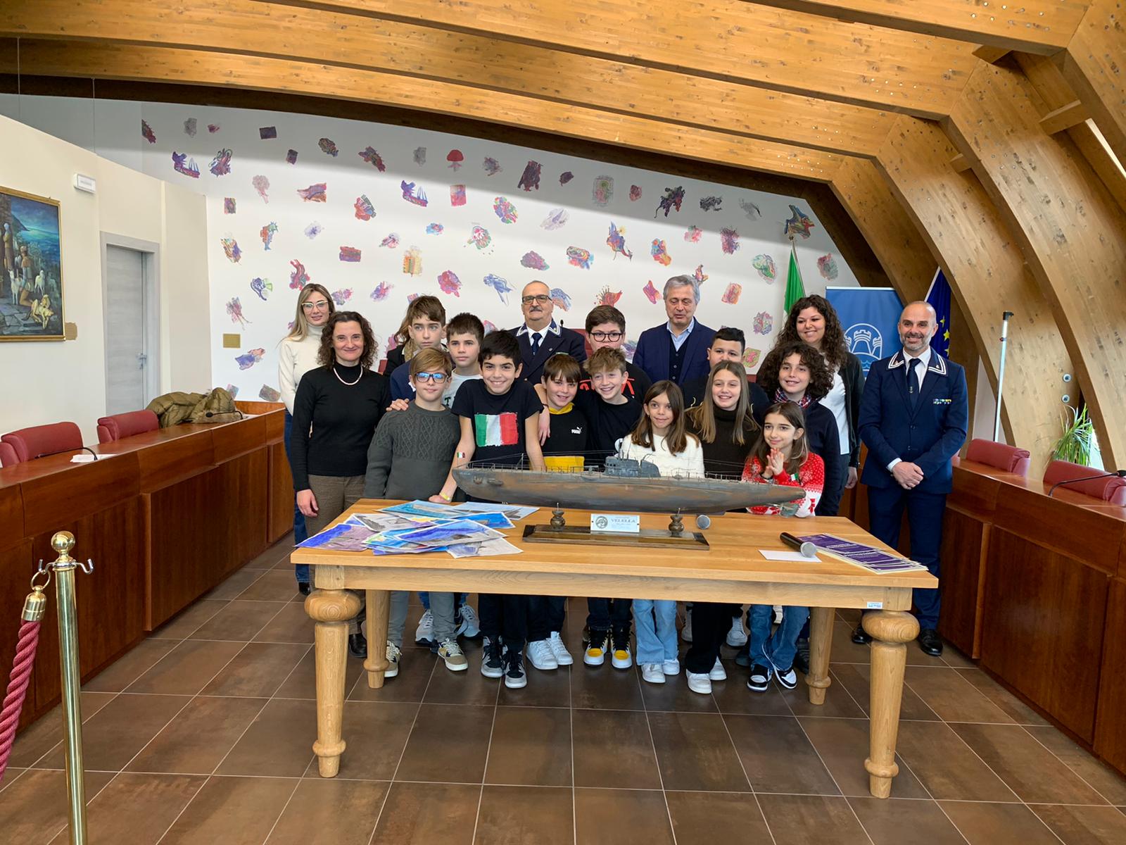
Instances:
[[[321,329],[329,318],[336,313],[337,306],[332,302],[332,295],[323,285],[309,284],[301,288],[297,296],[297,315],[293,320],[293,328],[289,333],[278,344],[278,386],[282,391],[282,401],[285,402],[285,454],[289,457],[289,432],[293,428],[293,400],[297,395],[297,384],[301,377],[310,370],[315,370],[320,364],[316,356],[321,350]],[[305,517],[297,509],[296,501],[293,508],[293,542],[302,543],[309,540],[309,532],[305,530]],[[301,563],[295,567],[297,576],[297,587],[302,593],[309,595],[310,573],[309,566]]]

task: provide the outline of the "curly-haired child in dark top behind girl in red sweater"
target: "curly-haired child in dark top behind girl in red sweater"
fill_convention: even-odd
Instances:
[[[762,359],[758,383],[772,402],[797,402],[805,413],[805,441],[810,452],[825,464],[825,486],[817,516],[837,516],[841,479],[840,434],[837,420],[822,399],[832,390],[833,371],[824,356],[802,340],[776,346]],[[758,420],[762,425],[762,420]]]

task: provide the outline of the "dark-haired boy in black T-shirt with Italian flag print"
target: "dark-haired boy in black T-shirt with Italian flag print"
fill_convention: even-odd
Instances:
[[[531,385],[518,381],[520,344],[511,331],[493,331],[481,345],[481,379],[462,384],[454,399],[462,436],[441,490],[432,501],[453,500],[457,490],[454,470],[470,461],[519,466],[524,456],[533,470],[545,470],[537,425],[540,402]],[[528,635],[528,597],[482,593],[477,605],[484,649],[481,674],[504,678],[504,686],[528,683],[524,643]]]

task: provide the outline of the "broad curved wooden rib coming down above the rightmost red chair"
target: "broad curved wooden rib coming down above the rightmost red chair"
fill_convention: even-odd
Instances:
[[[1046,112],[1021,73],[981,65],[949,133],[1052,304],[1103,460],[1117,466],[1126,459],[1126,220],[1070,139],[1040,128]]]

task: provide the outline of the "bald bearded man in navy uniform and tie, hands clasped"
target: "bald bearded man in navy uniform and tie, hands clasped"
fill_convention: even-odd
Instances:
[[[868,447],[860,480],[868,486],[869,531],[893,549],[903,509],[911,526],[911,559],[939,577],[942,512],[950,492],[950,459],[966,441],[969,404],[966,373],[931,349],[938,330],[935,309],[912,302],[900,315],[903,349],[868,370],[857,421]],[[919,647],[942,653],[938,637],[939,593],[914,590]],[[857,625],[854,642],[872,638]]]

